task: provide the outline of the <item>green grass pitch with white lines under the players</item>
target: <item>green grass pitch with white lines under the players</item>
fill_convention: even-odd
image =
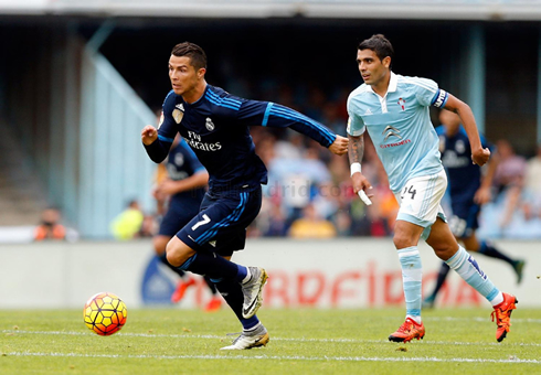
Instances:
[[[0,374],[541,374],[541,310],[520,309],[502,343],[490,309],[423,314],[426,336],[391,343],[403,309],[266,310],[270,342],[220,351],[240,331],[233,313],[132,309],[98,336],[82,311],[0,310]]]

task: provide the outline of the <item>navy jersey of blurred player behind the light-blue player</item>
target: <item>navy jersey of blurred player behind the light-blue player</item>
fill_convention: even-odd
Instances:
[[[436,128],[436,132],[439,137],[442,163],[447,170],[452,202],[473,202],[481,184],[481,168],[471,162],[471,147],[466,130],[460,126],[455,136],[447,137],[445,125],[442,125]],[[480,136],[480,140],[484,148],[492,148],[485,137]]]

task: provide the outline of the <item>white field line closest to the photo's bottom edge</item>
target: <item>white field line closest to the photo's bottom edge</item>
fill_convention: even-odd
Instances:
[[[270,361],[349,361],[349,362],[453,362],[453,363],[529,363],[541,364],[538,360],[482,360],[482,358],[437,358],[437,357],[365,357],[365,356],[304,356],[304,355],[119,355],[81,353],[32,353],[11,352],[4,356],[56,356],[89,358],[144,358],[144,360],[270,360]]]

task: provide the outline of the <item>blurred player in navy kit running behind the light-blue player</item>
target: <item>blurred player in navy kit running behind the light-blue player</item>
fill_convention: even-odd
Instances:
[[[442,163],[448,176],[448,193],[453,211],[449,227],[455,237],[464,243],[468,251],[479,253],[508,262],[517,274],[517,282],[520,283],[524,260],[511,259],[491,243],[479,240],[476,236],[481,205],[491,199],[490,185],[497,159],[494,158],[488,163],[487,173],[482,175],[481,168],[471,162],[471,148],[466,130],[460,125],[460,118],[444,109],[439,114],[439,121],[442,125],[436,128],[436,132],[439,137]],[[480,136],[480,140],[484,148],[489,148],[494,152],[492,144],[487,142],[485,137]],[[434,307],[437,293],[442,289],[448,271],[449,267],[443,262],[434,291],[424,300],[425,307]]]

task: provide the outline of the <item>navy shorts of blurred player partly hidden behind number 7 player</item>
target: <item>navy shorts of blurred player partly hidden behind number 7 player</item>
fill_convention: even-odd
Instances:
[[[161,219],[158,234],[168,237],[174,236],[199,213],[201,201],[199,197],[171,199],[166,216]]]

